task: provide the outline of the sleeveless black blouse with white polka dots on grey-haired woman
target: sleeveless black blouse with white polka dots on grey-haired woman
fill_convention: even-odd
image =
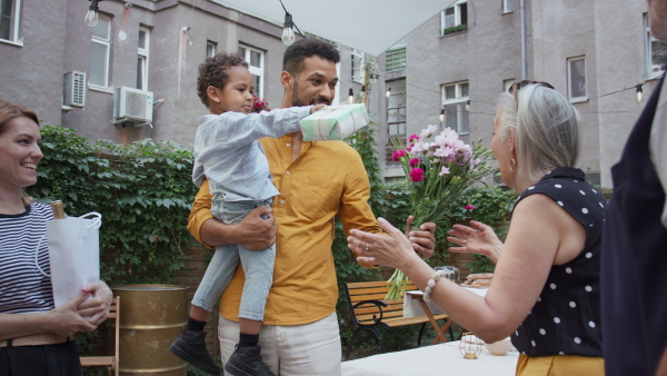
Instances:
[[[555,265],[528,317],[511,335],[528,356],[601,357],[600,251],[607,200],[584,179],[584,171],[559,167],[519,197],[550,197],[586,228],[586,245],[574,260]],[[517,202],[518,202],[517,201]]]

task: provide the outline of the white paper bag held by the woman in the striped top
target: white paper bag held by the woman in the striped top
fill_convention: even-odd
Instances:
[[[101,224],[102,216],[94,211],[79,218],[68,217],[47,221],[46,237],[49,241],[51,274],[46,274],[39,267],[38,251],[34,253],[34,264],[41,274],[51,277],[56,307],[81,294],[81,287],[100,281],[99,228]]]

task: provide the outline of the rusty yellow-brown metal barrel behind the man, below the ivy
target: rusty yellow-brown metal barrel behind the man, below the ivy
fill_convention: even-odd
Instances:
[[[188,323],[188,287],[125,285],[111,287],[120,296],[121,375],[185,376],[188,364],[169,346]],[[108,323],[110,336],[115,323]]]

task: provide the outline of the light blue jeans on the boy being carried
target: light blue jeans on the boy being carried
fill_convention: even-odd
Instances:
[[[225,201],[222,195],[215,195],[211,214],[225,224],[238,224],[252,209],[262,205],[271,209],[272,199],[266,201]],[[266,219],[266,218],[265,218]],[[276,245],[265,250],[249,250],[239,245],[216,248],[203,278],[195,293],[192,305],[212,311],[220,295],[229,285],[239,264],[243,266],[246,283],[239,307],[239,317],[261,321],[269,288],[273,283]]]

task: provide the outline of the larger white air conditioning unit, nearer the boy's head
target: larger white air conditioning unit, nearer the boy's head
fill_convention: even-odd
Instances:
[[[135,121],[136,126],[152,122],[152,91],[121,86],[113,92],[113,120]]]

